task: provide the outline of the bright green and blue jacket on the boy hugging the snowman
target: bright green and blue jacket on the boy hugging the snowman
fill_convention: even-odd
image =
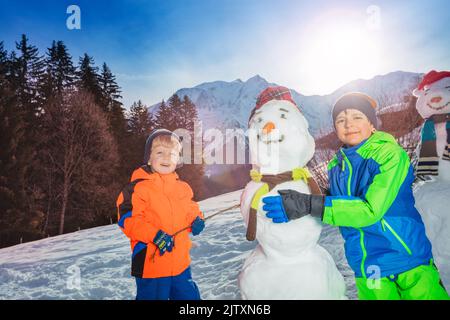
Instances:
[[[414,207],[413,168],[395,138],[377,131],[341,148],[328,165],[323,222],[339,226],[356,277],[390,277],[432,259]]]

